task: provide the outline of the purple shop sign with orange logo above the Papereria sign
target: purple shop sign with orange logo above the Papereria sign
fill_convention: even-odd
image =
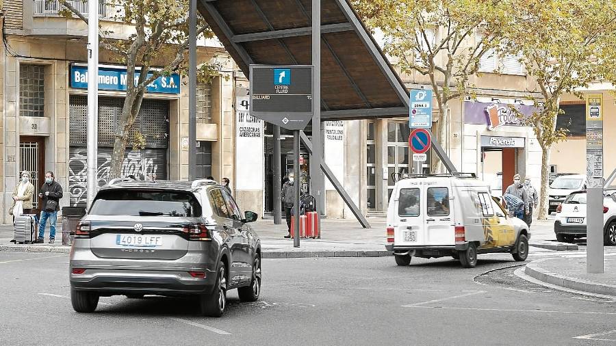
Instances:
[[[531,116],[535,106],[515,105],[525,116]],[[517,115],[506,103],[487,103],[465,101],[464,122],[466,124],[486,124],[489,130],[498,129],[504,125],[523,126]]]

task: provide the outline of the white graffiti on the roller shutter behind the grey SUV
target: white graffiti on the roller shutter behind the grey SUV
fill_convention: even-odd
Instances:
[[[87,199],[87,167],[86,148],[70,148],[68,159],[68,190],[70,192],[70,205],[73,207],[85,206]],[[105,185],[110,179],[112,161],[112,148],[99,148],[97,185]],[[141,150],[125,152],[120,176],[133,175],[136,178],[146,178],[155,174],[156,178],[166,178],[165,169],[157,162],[153,155],[145,155]]]

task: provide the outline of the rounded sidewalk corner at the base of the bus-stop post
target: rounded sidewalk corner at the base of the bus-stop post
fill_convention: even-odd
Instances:
[[[616,297],[616,253],[604,254],[603,274],[587,273],[586,256],[532,261],[524,274],[565,289]]]

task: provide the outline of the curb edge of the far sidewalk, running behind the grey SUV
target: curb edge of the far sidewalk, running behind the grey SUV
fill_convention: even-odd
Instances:
[[[68,254],[70,246],[63,245],[0,245],[0,251],[7,252],[53,252]],[[262,250],[263,258],[313,258],[313,257],[385,257],[393,256],[389,251],[378,250],[336,250],[336,251],[276,251]]]

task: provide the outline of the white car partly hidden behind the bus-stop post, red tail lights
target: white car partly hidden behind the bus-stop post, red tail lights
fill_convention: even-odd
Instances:
[[[556,240],[572,242],[586,237],[586,198],[586,191],[576,191],[556,208]],[[616,245],[616,190],[604,191],[603,222],[604,245]]]

